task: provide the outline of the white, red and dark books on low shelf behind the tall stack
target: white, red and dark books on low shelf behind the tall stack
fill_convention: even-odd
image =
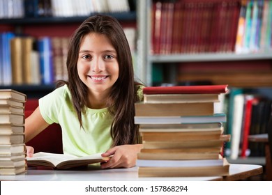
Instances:
[[[226,144],[225,155],[232,159],[265,156],[264,143],[248,142],[248,136],[268,132],[271,97],[245,88],[232,88],[227,104],[227,132],[232,134],[232,141]]]

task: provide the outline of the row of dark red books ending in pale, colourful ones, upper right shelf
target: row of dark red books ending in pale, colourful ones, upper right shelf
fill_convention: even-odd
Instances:
[[[153,1],[151,52],[266,52],[272,1]]]

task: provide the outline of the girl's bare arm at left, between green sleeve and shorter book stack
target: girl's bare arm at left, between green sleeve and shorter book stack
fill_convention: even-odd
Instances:
[[[27,143],[33,139],[33,137],[36,137],[36,135],[45,130],[48,126],[49,124],[45,122],[43,116],[40,114],[39,107],[37,107],[36,110],[26,118],[24,130],[25,142]]]

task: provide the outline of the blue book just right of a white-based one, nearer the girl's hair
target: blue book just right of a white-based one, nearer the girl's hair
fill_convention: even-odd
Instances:
[[[38,40],[38,52],[40,54],[41,83],[52,84],[54,82],[54,70],[51,38],[43,37]]]

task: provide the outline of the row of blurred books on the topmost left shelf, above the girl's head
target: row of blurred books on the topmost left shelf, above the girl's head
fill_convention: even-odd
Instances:
[[[1,18],[76,17],[92,13],[129,12],[128,0],[16,0],[0,1]],[[133,6],[134,7],[134,6]]]

